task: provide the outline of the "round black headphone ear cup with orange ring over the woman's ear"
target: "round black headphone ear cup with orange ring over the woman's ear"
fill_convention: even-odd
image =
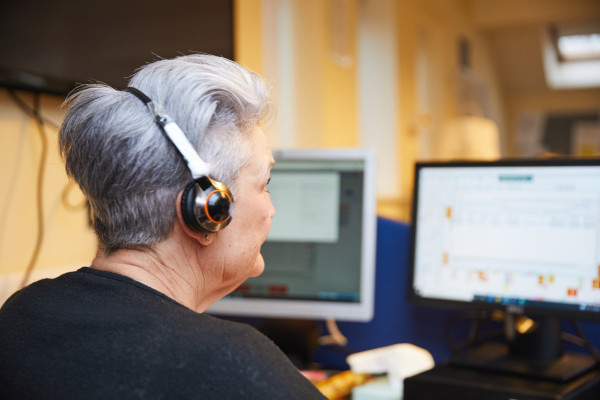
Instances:
[[[221,182],[202,176],[188,184],[181,196],[183,220],[196,232],[214,233],[233,217],[233,195]]]

